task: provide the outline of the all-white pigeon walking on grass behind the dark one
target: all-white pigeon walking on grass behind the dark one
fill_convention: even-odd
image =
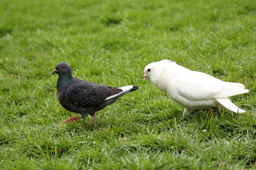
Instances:
[[[148,64],[144,69],[144,80],[150,81],[161,91],[183,106],[183,120],[193,110],[222,106],[230,111],[244,113],[229,100],[229,96],[248,93],[240,83],[224,82],[208,74],[192,71],[164,59]]]

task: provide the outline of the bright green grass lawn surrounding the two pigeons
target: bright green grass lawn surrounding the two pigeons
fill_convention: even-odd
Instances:
[[[256,169],[256,0],[1,0],[0,169]],[[250,90],[245,114],[183,107],[144,67],[171,59]],[[136,92],[80,123],[57,100],[55,65]]]

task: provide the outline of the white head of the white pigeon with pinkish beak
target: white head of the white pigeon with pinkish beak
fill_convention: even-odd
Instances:
[[[170,62],[174,62],[168,59],[163,59],[161,61],[156,61],[148,64],[144,68],[144,80],[146,80],[147,77],[154,77],[160,74],[164,68],[166,68],[166,65],[168,65]],[[175,63],[175,62],[174,62]]]

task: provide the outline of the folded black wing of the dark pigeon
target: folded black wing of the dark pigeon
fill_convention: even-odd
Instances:
[[[96,106],[116,93],[120,89],[111,88],[105,85],[98,85],[88,81],[73,83],[66,92],[67,99],[78,107]]]

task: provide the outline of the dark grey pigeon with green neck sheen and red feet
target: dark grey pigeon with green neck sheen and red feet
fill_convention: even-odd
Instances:
[[[96,83],[80,80],[72,76],[71,67],[61,62],[57,64],[52,74],[58,74],[57,93],[58,100],[62,107],[68,111],[80,113],[81,116],[73,117],[64,122],[87,117],[92,117],[94,124],[95,112],[115,102],[120,96],[135,91],[139,86],[127,85],[123,87],[109,87]]]

